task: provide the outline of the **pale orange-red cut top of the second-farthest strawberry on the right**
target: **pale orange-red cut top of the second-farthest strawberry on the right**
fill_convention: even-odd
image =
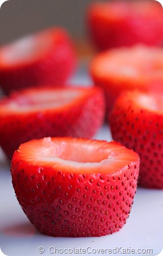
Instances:
[[[91,72],[97,77],[159,78],[162,77],[163,50],[157,47],[136,45],[126,49],[108,50],[97,55],[92,62]]]

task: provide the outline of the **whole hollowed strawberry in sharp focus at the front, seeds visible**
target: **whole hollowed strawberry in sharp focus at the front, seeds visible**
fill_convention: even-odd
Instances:
[[[101,236],[126,223],[139,156],[118,143],[43,138],[20,145],[12,184],[30,222],[46,235]]]

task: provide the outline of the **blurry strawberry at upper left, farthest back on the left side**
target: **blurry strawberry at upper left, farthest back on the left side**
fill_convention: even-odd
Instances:
[[[76,64],[74,46],[62,28],[45,29],[0,49],[0,85],[5,93],[24,87],[60,86]]]

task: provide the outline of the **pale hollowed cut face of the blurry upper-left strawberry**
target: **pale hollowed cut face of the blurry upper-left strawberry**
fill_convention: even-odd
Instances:
[[[42,55],[46,54],[50,47],[55,44],[55,33],[58,32],[57,29],[49,29],[38,33],[37,36],[26,36],[2,47],[0,50],[0,65],[3,67],[22,65],[22,62],[30,63],[32,60],[42,58]]]

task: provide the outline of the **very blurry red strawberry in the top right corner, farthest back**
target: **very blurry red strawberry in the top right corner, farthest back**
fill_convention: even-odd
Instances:
[[[157,1],[94,2],[86,18],[87,32],[99,50],[163,41],[163,11]]]

